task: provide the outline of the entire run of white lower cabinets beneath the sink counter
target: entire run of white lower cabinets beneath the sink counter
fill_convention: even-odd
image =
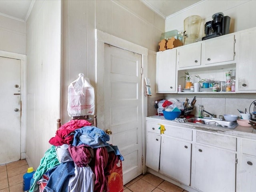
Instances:
[[[256,191],[256,140],[166,120],[146,124],[146,166],[156,175],[192,192]]]

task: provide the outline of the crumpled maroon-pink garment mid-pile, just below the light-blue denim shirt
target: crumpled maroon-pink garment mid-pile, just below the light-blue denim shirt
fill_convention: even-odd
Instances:
[[[69,145],[68,151],[78,167],[85,167],[92,160],[93,155],[91,152],[93,153],[93,149],[85,144],[79,146]]]

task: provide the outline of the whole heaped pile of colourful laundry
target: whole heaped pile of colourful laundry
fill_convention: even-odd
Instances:
[[[49,140],[52,146],[41,159],[29,192],[123,191],[124,158],[117,146],[107,143],[109,139],[87,120],[63,124]]]

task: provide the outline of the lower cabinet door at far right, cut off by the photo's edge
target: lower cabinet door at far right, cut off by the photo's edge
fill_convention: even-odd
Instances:
[[[254,192],[256,190],[256,157],[243,154],[242,161],[239,161],[241,170],[238,176],[238,191]]]

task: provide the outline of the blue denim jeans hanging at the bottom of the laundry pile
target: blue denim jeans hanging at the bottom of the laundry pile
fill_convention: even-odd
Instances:
[[[48,171],[49,180],[44,192],[68,192],[68,181],[74,175],[75,165],[73,161],[61,163]]]

